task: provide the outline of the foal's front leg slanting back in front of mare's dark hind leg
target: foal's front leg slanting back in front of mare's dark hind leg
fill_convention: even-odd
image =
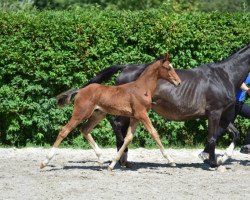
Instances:
[[[112,170],[115,167],[115,164],[118,162],[118,160],[120,160],[121,156],[123,155],[124,150],[128,147],[130,142],[133,140],[134,132],[136,130],[137,124],[138,124],[138,120],[130,119],[130,124],[128,127],[127,135],[124,138],[124,143],[122,147],[119,149],[119,151],[117,152],[115,158],[112,160],[112,163],[108,166],[108,170]]]

